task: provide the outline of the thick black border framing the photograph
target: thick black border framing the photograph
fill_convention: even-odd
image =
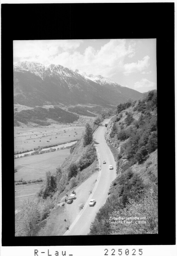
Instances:
[[[175,244],[174,3],[2,4],[1,18],[2,246]],[[13,40],[111,38],[157,39],[159,234],[15,237]]]

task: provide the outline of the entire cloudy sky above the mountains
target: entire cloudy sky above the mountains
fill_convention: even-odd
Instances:
[[[15,40],[13,61],[102,75],[140,92],[156,89],[156,39]]]

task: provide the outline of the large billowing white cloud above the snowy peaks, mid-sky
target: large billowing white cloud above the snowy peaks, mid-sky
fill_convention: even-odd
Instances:
[[[133,49],[125,46],[124,39],[111,39],[103,45],[100,50],[95,50],[89,46],[83,54],[79,51],[62,52],[53,58],[54,64],[60,64],[73,70],[79,69],[80,72],[87,74],[101,74],[102,76],[113,76],[122,71],[125,56],[131,54]]]

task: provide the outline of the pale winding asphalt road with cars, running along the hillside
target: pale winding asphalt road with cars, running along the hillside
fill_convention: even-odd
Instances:
[[[110,119],[106,119],[93,136],[101,159],[101,171],[98,174],[96,186],[84,208],[64,235],[87,235],[90,232],[91,222],[94,221],[99,208],[104,205],[108,197],[110,184],[116,178],[116,162],[104,138],[104,133],[107,129],[104,124],[109,122],[109,120]],[[103,160],[106,161],[106,164],[103,164]],[[113,165],[114,169],[109,170],[109,165]],[[79,196],[79,194],[77,196]],[[96,200],[94,206],[89,206],[91,199]]]

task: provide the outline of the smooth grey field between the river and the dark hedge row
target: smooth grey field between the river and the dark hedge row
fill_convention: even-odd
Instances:
[[[15,180],[32,180],[45,178],[45,173],[54,173],[56,167],[61,165],[70,154],[70,149],[48,152],[41,155],[25,156],[14,159],[17,172],[14,173]]]

